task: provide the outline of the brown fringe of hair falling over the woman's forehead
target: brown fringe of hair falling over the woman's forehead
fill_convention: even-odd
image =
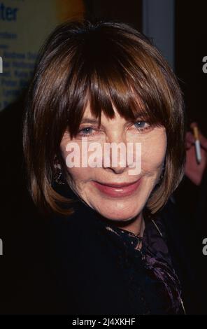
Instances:
[[[103,40],[102,40],[103,43]],[[107,47],[110,46],[110,56]],[[114,118],[115,111],[125,120],[145,120],[150,125],[166,125],[170,121],[170,90],[166,86],[162,69],[143,50],[123,50],[119,45],[105,43],[79,49],[78,54],[65,61],[64,118],[71,138],[78,133],[87,104],[94,118],[101,113]],[[62,82],[61,82],[62,83]],[[168,89],[168,90],[166,90]],[[166,94],[168,99],[166,100]]]

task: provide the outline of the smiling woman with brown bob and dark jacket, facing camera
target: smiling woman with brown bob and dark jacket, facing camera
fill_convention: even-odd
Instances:
[[[185,313],[160,216],[183,178],[183,116],[173,71],[128,25],[66,22],[45,42],[24,155],[31,196],[52,217],[56,312]]]

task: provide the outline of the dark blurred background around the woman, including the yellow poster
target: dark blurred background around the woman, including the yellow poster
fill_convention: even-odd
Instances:
[[[37,278],[42,275],[38,272],[38,263],[43,262],[47,225],[37,216],[27,193],[22,158],[22,112],[41,44],[57,24],[71,18],[126,22],[152,40],[178,77],[185,99],[187,130],[191,131],[192,122],[197,123],[204,141],[204,163],[202,170],[196,165],[190,167],[190,171],[199,173],[199,180],[192,179],[194,175],[186,171],[172,198],[176,211],[170,211],[183,232],[189,251],[187,258],[198,275],[201,299],[197,312],[207,314],[207,255],[202,252],[203,240],[207,237],[206,13],[205,0],[0,1],[0,239],[3,241],[0,288],[4,291],[0,314],[31,313],[25,303],[22,309],[20,290],[27,281],[27,271],[32,269]],[[187,161],[188,166],[193,163],[192,153]],[[31,298],[32,293],[29,287],[27,297]]]

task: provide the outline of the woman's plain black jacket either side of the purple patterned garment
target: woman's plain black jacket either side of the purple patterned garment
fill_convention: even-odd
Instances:
[[[63,195],[77,200],[71,190],[61,190]],[[57,287],[56,300],[59,301],[54,304],[55,312],[144,314],[143,304],[136,298],[138,286],[136,283],[129,285],[126,282],[129,274],[126,276],[116,264],[117,254],[113,254],[112,244],[118,242],[107,243],[99,222],[94,221],[93,209],[83,202],[78,202],[74,209],[71,218],[54,216],[51,221],[50,264]],[[185,248],[185,232],[179,228],[178,214],[171,200],[159,216],[162,216],[169,253],[180,279],[185,310],[187,314],[198,314],[197,275]],[[122,245],[115,248],[122,248]],[[138,281],[144,280],[141,272],[137,272],[136,276]],[[148,285],[146,293],[151,312],[162,314],[162,305],[159,305],[158,298],[154,298],[156,292],[149,291],[154,288],[150,288],[150,282]]]

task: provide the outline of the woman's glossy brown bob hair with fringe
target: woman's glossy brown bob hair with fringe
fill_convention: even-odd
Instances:
[[[121,22],[65,22],[50,34],[39,53],[24,114],[23,147],[29,191],[41,210],[63,215],[71,200],[52,186],[55,158],[66,175],[60,142],[66,129],[76,136],[87,103],[126,120],[139,115],[166,128],[164,176],[146,204],[155,214],[183,178],[185,120],[183,97],[173,71],[152,43]]]

